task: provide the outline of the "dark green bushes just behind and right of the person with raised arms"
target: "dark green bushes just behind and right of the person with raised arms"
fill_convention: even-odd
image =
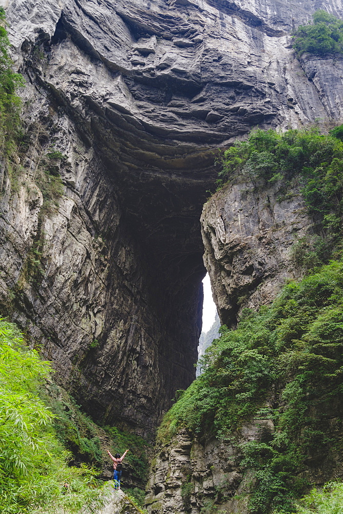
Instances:
[[[145,484],[149,470],[147,459],[147,442],[139,435],[131,434],[125,430],[118,430],[117,427],[104,427],[112,439],[111,453],[121,455],[129,449],[125,460],[132,466],[132,479]]]

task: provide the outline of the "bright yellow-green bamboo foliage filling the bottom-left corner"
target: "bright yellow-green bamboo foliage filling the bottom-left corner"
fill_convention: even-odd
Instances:
[[[51,371],[0,320],[0,511],[78,513],[100,502],[92,470],[68,466],[40,390]],[[67,486],[65,486],[67,484]],[[94,503],[95,502],[95,503]]]

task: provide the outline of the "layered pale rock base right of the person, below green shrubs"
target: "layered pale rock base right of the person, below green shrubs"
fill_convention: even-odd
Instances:
[[[180,430],[151,465],[149,514],[199,514],[206,506],[211,511],[211,504],[223,512],[247,512],[252,475],[240,466],[239,445],[260,440],[262,430],[273,430],[271,420],[256,420],[222,441],[211,435],[199,440]]]

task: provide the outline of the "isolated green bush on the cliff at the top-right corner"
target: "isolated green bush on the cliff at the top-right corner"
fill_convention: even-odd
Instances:
[[[343,21],[323,10],[316,11],[312,17],[313,24],[300,25],[294,34],[293,48],[298,54],[343,53]]]

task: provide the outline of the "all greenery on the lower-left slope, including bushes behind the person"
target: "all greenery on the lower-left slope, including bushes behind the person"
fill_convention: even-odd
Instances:
[[[82,508],[86,513],[101,504],[102,489],[95,476],[102,467],[110,467],[100,445],[104,431],[50,380],[50,372],[50,364],[28,350],[15,326],[0,320],[0,511],[4,514],[60,514],[59,509],[76,514]],[[143,486],[148,470],[144,439],[114,427],[106,431],[112,437],[113,453],[130,448],[126,461],[133,469],[131,478]],[[145,512],[144,490],[134,487],[126,492],[127,501]]]

